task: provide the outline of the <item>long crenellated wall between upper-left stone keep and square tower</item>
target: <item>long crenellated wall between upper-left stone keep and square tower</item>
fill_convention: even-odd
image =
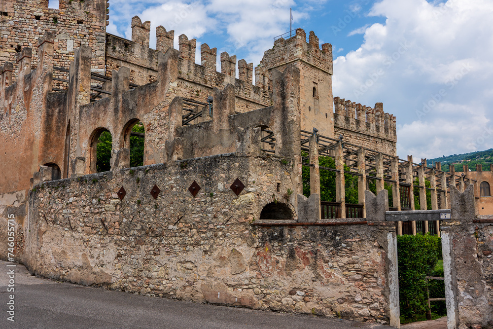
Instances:
[[[157,50],[148,46],[149,30],[143,28],[139,17],[132,19],[132,40],[106,35],[106,75],[111,70],[125,66],[130,68],[130,81],[138,85],[156,81],[157,56],[173,48],[174,31],[166,31],[162,26],[156,28]],[[142,41],[147,40],[147,41]],[[195,63],[196,40],[189,40],[185,35],[178,37],[178,88],[180,97],[206,102],[213,95],[214,88],[224,88],[228,83],[235,86],[238,112],[256,110],[272,105],[272,98],[267,87],[252,84],[253,64],[242,65],[242,74],[236,78],[236,56],[221,54],[221,72],[216,71],[216,48],[201,45],[202,65]],[[245,63],[243,63],[245,62]]]

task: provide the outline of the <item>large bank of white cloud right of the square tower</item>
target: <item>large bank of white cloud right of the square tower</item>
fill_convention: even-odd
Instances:
[[[398,153],[431,158],[471,151],[493,119],[485,110],[493,101],[487,89],[493,2],[383,0],[369,14],[386,22],[367,27],[361,47],[334,61],[334,95],[365,105],[384,102],[400,124]],[[437,104],[420,115],[436,95]],[[493,136],[475,145],[489,148]]]

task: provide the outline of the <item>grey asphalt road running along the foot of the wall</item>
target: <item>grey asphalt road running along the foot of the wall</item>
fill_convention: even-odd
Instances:
[[[391,327],[310,315],[187,303],[107,291],[31,276],[23,265],[0,261],[0,328],[310,328]],[[15,322],[8,321],[8,270],[15,268]]]

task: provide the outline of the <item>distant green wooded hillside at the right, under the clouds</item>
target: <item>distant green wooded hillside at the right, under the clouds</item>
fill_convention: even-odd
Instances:
[[[455,167],[456,172],[463,171],[463,165],[468,165],[469,170],[476,171],[477,164],[483,165],[483,171],[490,171],[490,164],[493,163],[493,148],[487,149],[486,151],[453,154],[449,156],[444,155],[435,159],[427,159],[426,165],[431,167],[437,161],[442,163],[442,170],[446,172],[450,171],[451,165]]]

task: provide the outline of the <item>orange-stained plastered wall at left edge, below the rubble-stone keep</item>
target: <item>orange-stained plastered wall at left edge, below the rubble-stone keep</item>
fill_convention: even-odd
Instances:
[[[36,70],[31,71],[31,48],[19,53],[18,79],[12,85],[6,83],[12,64],[0,68],[0,194],[29,188],[39,165],[63,168],[65,134],[59,132],[65,132],[67,115],[64,94],[51,92],[53,40],[45,34],[37,41]]]

